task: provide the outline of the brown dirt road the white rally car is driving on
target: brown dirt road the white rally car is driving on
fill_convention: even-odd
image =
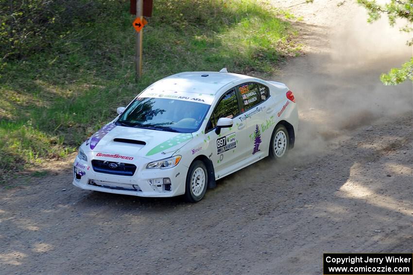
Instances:
[[[298,4],[308,45],[275,77],[300,108],[285,162],[228,176],[197,204],[83,191],[61,163],[1,190],[1,274],[319,275],[323,252],[412,252],[412,84],[378,79],[409,56],[403,37],[348,1],[300,2],[273,1]]]

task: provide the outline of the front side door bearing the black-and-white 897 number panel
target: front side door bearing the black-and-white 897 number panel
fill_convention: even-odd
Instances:
[[[246,123],[239,121],[240,109],[239,99],[235,88],[227,91],[218,101],[206,127],[208,142],[212,143],[212,156],[215,171],[225,169],[236,162],[241,161],[243,156],[242,144],[247,142]],[[217,121],[220,117],[228,117],[234,120],[230,128],[222,128],[221,133],[215,132]]]

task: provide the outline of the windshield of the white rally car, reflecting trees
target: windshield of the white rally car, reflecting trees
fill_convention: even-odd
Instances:
[[[198,102],[138,97],[120,115],[117,125],[190,133],[199,129],[209,105]]]

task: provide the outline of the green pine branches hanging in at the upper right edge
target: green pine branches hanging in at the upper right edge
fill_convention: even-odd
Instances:
[[[390,26],[394,26],[396,19],[404,18],[410,23],[400,29],[401,32],[412,32],[413,23],[413,0],[390,0],[385,4],[378,4],[376,0],[357,0],[357,2],[367,9],[369,23],[378,20],[382,14],[387,14]],[[410,47],[412,40],[407,42]],[[407,79],[413,81],[413,58],[401,65],[400,68],[392,68],[389,73],[381,74],[380,80],[385,85],[397,85]]]

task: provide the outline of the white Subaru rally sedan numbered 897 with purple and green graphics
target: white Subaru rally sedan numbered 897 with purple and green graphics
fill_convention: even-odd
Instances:
[[[116,194],[202,199],[215,180],[293,148],[298,113],[286,85],[184,72],[155,82],[87,139],[73,184]]]

